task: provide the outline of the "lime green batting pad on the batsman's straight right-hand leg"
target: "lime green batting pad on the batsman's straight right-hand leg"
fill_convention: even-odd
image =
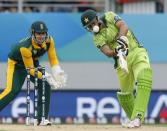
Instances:
[[[147,109],[152,87],[152,70],[143,69],[137,77],[136,98],[131,119],[139,117],[142,122]]]

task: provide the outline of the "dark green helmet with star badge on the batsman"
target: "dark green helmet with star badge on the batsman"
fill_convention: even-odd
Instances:
[[[81,15],[81,22],[84,27],[88,26],[95,18],[97,13],[94,10],[88,9]]]

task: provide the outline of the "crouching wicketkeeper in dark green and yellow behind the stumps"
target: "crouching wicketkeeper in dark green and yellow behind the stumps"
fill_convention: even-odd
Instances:
[[[34,67],[39,67],[39,58],[45,53],[51,66],[52,75],[45,72],[45,121],[41,122],[42,115],[42,73],[38,77],[38,125],[51,125],[48,120],[51,87],[60,88],[66,85],[67,75],[62,70],[56,55],[54,40],[48,35],[48,28],[43,21],[35,21],[31,25],[31,36],[22,39],[14,45],[8,54],[7,87],[0,94],[0,111],[7,106],[21,91],[27,68],[30,68],[31,81],[34,82]]]

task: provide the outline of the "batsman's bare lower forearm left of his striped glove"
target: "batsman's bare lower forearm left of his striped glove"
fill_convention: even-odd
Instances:
[[[113,57],[116,56],[116,53],[114,50],[110,49],[110,47],[105,44],[100,48],[101,52],[103,52],[103,54],[105,54],[108,57]]]

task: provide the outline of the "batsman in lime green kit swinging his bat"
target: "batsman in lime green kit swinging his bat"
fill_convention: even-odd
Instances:
[[[117,97],[129,118],[122,126],[140,127],[152,87],[152,69],[146,49],[140,45],[125,21],[112,11],[99,17],[95,10],[88,9],[81,15],[81,22],[93,34],[95,47],[115,60],[120,82]]]

